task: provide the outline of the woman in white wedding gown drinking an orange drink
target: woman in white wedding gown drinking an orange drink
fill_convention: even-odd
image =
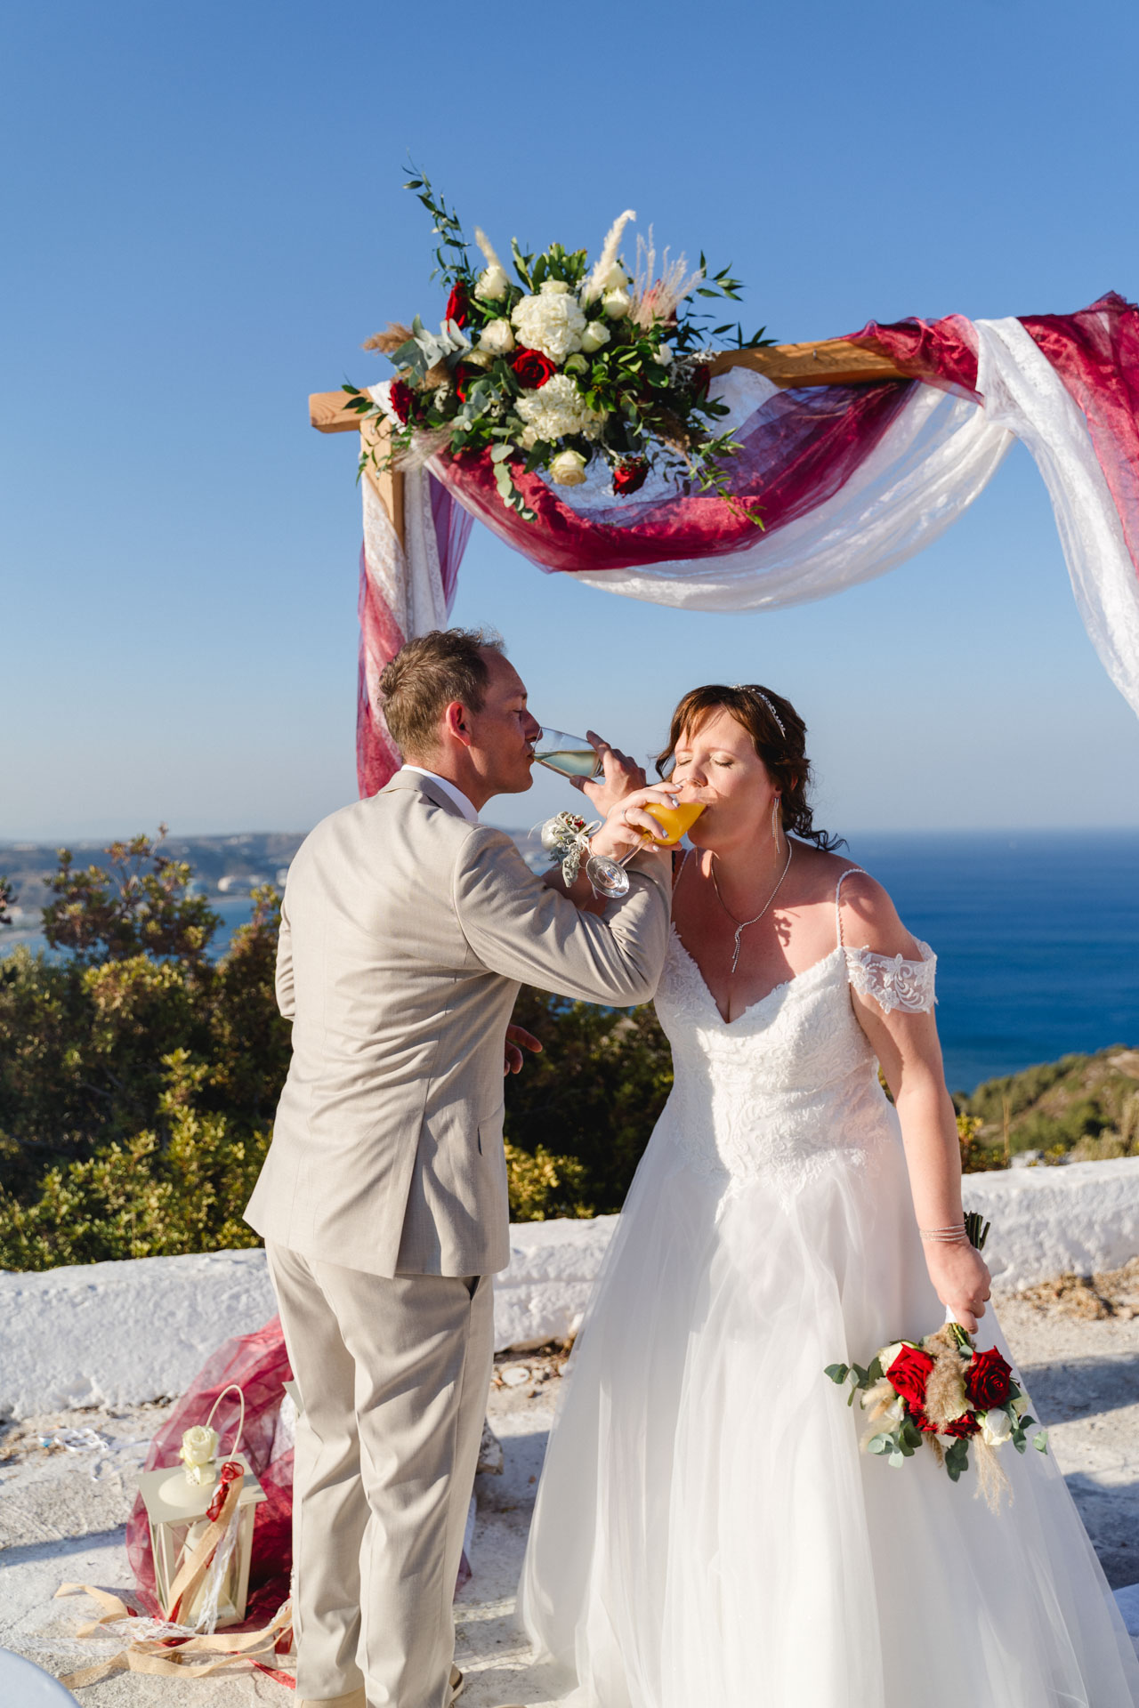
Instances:
[[[758,687],[673,716],[657,769],[704,803],[656,996],[675,1086],[570,1361],[524,1624],[575,1708],[1132,1708],[1054,1459],[1001,1450],[992,1513],[972,1465],[955,1486],[932,1452],[859,1452],[823,1375],[946,1310],[977,1331],[989,1272],[934,955],[813,828],[804,734]],[[611,816],[656,828],[657,793]]]

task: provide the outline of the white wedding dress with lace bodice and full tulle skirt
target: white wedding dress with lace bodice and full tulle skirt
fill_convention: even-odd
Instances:
[[[838,946],[726,1023],[673,933],[675,1086],[569,1365],[521,1616],[574,1708],[1132,1708],[1139,1665],[1055,1459],[1013,1505],[859,1452],[825,1375],[939,1327],[897,1115]],[[968,1182],[965,1190],[968,1208]],[[994,1230],[999,1240],[999,1228]],[[1001,1341],[987,1313],[978,1344]],[[1035,1433],[1035,1431],[1033,1431]]]

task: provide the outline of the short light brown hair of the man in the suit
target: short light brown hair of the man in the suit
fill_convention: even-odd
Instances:
[[[485,652],[505,656],[502,639],[483,629],[432,629],[400,647],[379,676],[384,719],[403,757],[439,746],[439,719],[453,700],[482,712],[487,700]]]

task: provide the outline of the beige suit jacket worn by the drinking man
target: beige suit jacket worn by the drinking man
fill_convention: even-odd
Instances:
[[[415,772],[319,823],[285,885],[292,1064],[246,1221],[379,1276],[504,1269],[514,997],[523,982],[615,1006],[652,996],[668,866],[635,868],[605,919],[581,914]]]

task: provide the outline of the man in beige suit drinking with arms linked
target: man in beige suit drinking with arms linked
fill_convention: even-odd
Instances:
[[[381,692],[403,770],[318,825],[289,873],[277,994],[292,1066],[246,1209],[302,1402],[299,1708],[447,1708],[458,1693],[490,1278],[511,1255],[511,1009],[521,982],[644,1003],[668,936],[664,856],[637,856],[599,919],[478,823],[492,796],[529,789],[540,731],[497,639],[412,640]],[[605,750],[593,804],[637,782]]]

